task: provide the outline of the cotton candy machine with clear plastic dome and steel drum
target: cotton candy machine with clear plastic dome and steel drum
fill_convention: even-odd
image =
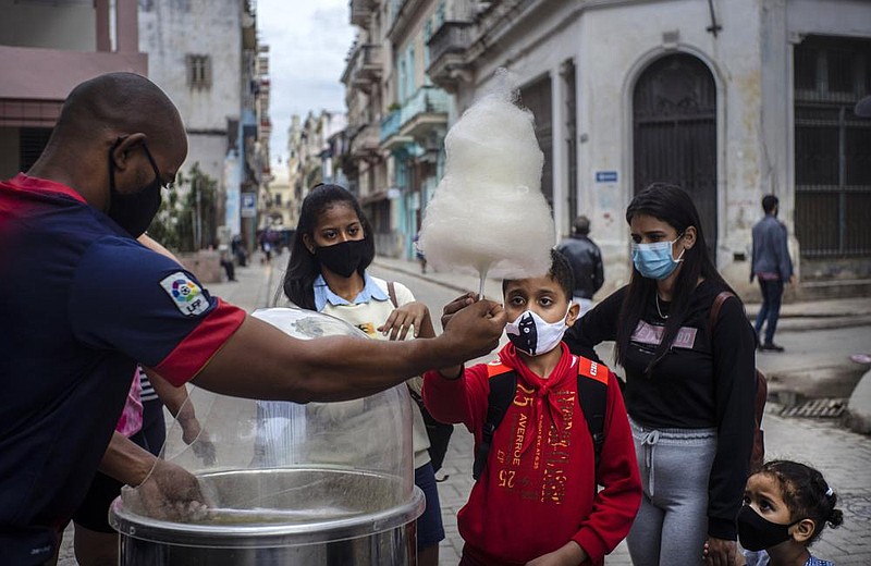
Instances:
[[[298,339],[368,340],[307,310],[254,316]],[[307,405],[189,389],[201,431],[173,421],[164,462],[110,509],[122,565],[415,564],[425,503],[405,386]]]

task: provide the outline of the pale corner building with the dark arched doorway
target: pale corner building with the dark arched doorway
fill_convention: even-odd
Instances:
[[[400,2],[421,16],[422,3]],[[428,45],[428,74],[457,112],[496,69],[517,77],[557,235],[577,213],[591,218],[603,293],[628,280],[625,209],[654,181],[690,193],[743,293],[755,292],[750,229],[768,193],[781,199],[801,294],[871,290],[871,124],[851,112],[871,93],[871,2],[478,2]]]

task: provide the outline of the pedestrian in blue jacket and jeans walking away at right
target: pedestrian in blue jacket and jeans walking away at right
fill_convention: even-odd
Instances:
[[[774,343],[777,319],[781,316],[784,282],[795,282],[793,260],[786,237],[786,225],[777,220],[780,200],[774,195],[762,197],[762,211],[765,218],[753,226],[753,258],[750,266],[750,283],[759,280],[762,291],[762,305],[756,316],[756,335],[762,352],[783,352],[783,346]],[[761,340],[762,325],[765,340]]]

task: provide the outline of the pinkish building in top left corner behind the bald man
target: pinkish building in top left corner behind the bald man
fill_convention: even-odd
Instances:
[[[103,73],[146,75],[135,2],[0,0],[0,179],[45,149],[66,95]]]

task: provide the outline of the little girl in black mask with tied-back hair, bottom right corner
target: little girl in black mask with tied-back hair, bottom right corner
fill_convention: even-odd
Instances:
[[[747,566],[833,566],[808,546],[825,524],[844,521],[837,495],[822,473],[803,464],[772,460],[753,472],[738,513],[738,540]]]

